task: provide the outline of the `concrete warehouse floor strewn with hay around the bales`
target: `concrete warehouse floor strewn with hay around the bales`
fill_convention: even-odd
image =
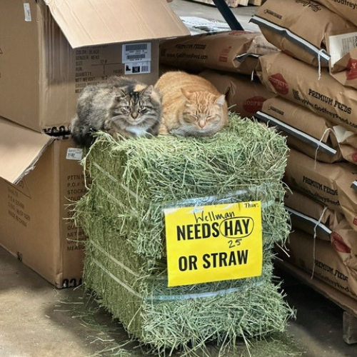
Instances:
[[[212,6],[184,0],[174,0],[171,6],[180,16],[223,20]],[[248,24],[254,11],[254,6],[233,9],[248,30],[256,29]],[[342,309],[291,276],[278,273],[283,276],[286,298],[296,308],[297,318],[289,321],[287,333],[276,336],[274,341],[253,343],[252,357],[357,356],[357,344],[348,345],[342,339]],[[55,289],[2,248],[0,306],[1,357],[144,355],[136,343],[119,347],[128,340],[124,329],[111,321],[109,314],[99,309],[81,288]],[[281,353],[274,350],[279,348],[279,339],[283,341]],[[266,352],[260,353],[260,349]],[[248,356],[245,348],[242,353]],[[217,356],[214,348],[211,356]]]

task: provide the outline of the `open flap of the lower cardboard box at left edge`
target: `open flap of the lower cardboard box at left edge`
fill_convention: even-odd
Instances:
[[[0,117],[0,177],[11,183],[34,169],[54,138]]]

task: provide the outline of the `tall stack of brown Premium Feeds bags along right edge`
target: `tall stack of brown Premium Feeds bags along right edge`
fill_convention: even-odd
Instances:
[[[342,4],[332,3],[268,0],[253,16],[282,51],[259,59],[258,76],[277,97],[256,116],[288,136],[284,181],[305,202],[296,211],[305,218],[297,226],[293,221],[289,256],[283,258],[356,298],[357,27],[335,11]],[[322,205],[316,227],[331,211],[341,216],[327,225],[328,241],[308,230],[311,199]]]

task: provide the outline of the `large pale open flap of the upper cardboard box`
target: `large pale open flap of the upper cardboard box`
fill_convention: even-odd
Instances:
[[[190,32],[166,0],[44,0],[72,48]]]

